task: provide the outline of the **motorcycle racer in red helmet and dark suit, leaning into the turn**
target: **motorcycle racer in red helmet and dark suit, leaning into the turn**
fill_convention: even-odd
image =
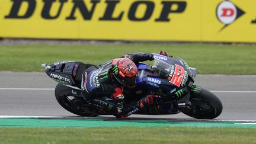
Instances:
[[[159,54],[168,55],[161,51]],[[120,58],[109,60],[98,66],[91,66],[82,75],[82,96],[89,103],[110,111],[116,117],[127,117],[145,105],[158,103],[157,95],[147,94],[136,103],[124,102],[124,89],[131,89],[136,85],[137,66],[135,63],[153,60],[151,53],[130,53]],[[116,101],[116,105],[109,99]],[[116,108],[116,109],[115,109]]]

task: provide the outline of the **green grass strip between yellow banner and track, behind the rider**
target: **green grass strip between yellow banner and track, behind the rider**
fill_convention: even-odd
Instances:
[[[256,74],[256,46],[221,44],[120,44],[104,46],[0,46],[0,71],[43,71],[41,63],[75,60],[99,64],[130,52],[167,50],[203,74]]]

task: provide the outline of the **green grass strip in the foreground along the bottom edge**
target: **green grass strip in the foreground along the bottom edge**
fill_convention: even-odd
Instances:
[[[255,129],[184,127],[1,128],[0,143],[255,143]]]

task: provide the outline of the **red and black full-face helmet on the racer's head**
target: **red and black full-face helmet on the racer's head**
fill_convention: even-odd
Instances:
[[[114,59],[112,62],[114,77],[124,87],[132,88],[136,85],[137,66],[128,58]]]

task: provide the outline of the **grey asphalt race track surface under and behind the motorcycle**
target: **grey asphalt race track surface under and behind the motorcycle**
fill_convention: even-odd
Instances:
[[[76,117],[55,100],[56,84],[43,72],[0,72],[0,116]],[[256,76],[197,75],[196,84],[209,89],[222,101],[223,112],[216,119],[256,120]],[[182,113],[129,117],[136,118],[191,119]]]

